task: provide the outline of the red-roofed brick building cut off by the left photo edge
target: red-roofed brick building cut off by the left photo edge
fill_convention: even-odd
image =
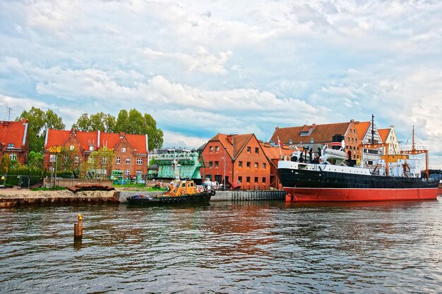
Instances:
[[[28,120],[0,121],[0,156],[5,154],[9,159],[20,164],[28,164],[29,156]]]

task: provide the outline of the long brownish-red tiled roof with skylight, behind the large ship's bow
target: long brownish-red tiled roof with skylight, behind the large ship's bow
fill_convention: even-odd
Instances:
[[[277,144],[277,138],[279,137],[280,141],[284,144],[289,144],[290,139],[293,144],[298,144],[299,142],[309,143],[311,138],[313,138],[313,142],[330,142],[333,135],[345,135],[349,125],[350,122],[277,128],[270,141],[274,141]],[[301,131],[307,130],[311,130],[310,135],[301,136]]]

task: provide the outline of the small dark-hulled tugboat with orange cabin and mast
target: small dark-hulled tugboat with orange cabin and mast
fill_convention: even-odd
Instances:
[[[169,205],[183,203],[208,203],[215,195],[210,186],[196,185],[193,180],[181,180],[178,173],[178,164],[174,162],[175,180],[167,187],[167,192],[160,195],[134,195],[126,197],[129,204],[141,205]]]

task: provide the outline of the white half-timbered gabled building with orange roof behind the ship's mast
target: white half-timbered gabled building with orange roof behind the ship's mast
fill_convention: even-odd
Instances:
[[[383,143],[381,139],[381,135],[378,133],[378,128],[376,128],[376,124],[371,121],[356,121],[354,123],[357,134],[359,136],[359,142],[362,144],[381,144]],[[381,155],[383,155],[383,148],[377,149],[367,149],[362,148],[360,160],[363,164],[373,164],[373,161],[381,159]]]

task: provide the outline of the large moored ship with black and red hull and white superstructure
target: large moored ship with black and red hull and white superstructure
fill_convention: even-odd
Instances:
[[[342,140],[339,150],[327,152],[325,145],[311,162],[278,161],[286,202],[436,200],[439,183],[429,178],[428,151],[414,147],[414,131],[412,149],[400,154],[388,154],[388,143],[363,144],[359,152],[362,147],[383,147],[385,153],[371,166],[349,164]],[[410,158],[416,154],[426,155],[424,176],[419,159]]]

